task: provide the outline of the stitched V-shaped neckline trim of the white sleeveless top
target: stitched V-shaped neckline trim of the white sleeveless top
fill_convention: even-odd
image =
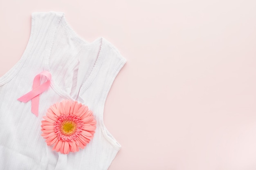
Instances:
[[[49,71],[51,73],[51,70],[49,68],[49,57],[51,55],[51,49],[53,46],[53,41],[54,41],[54,35],[56,33],[56,29],[57,26],[60,22],[62,22],[63,26],[65,27],[66,31],[68,31],[69,33],[71,33],[74,38],[83,45],[83,48],[91,48],[95,45],[97,45],[97,43],[101,43],[100,49],[99,49],[99,53],[97,56],[97,59],[94,63],[94,66],[92,67],[90,74],[88,75],[88,77],[86,77],[85,81],[83,82],[83,84],[81,85],[80,88],[80,92],[77,94],[76,99],[74,99],[73,97],[71,97],[69,94],[67,94],[62,88],[60,88],[57,84],[55,84],[54,79],[52,78],[51,81],[51,87],[52,89],[61,97],[65,98],[65,99],[69,99],[72,101],[75,101],[79,98],[80,95],[82,95],[90,86],[90,84],[92,83],[92,81],[94,80],[94,78],[96,77],[97,73],[99,72],[99,69],[101,67],[101,64],[103,62],[103,59],[106,55],[106,41],[103,37],[99,37],[97,39],[95,39],[92,42],[87,42],[85,41],[83,38],[81,38],[70,26],[70,24],[68,24],[67,20],[65,19],[65,13],[57,13],[54,11],[50,11],[56,14],[56,17],[54,18],[53,21],[53,25],[51,26],[50,30],[49,30],[49,35],[47,38],[47,44],[46,44],[46,49],[45,49],[45,53],[44,53],[44,57],[43,57],[43,70],[45,71]],[[61,14],[61,15],[58,15]],[[51,73],[52,74],[52,73]]]

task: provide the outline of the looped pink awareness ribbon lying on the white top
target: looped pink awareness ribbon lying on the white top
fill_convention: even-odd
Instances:
[[[47,81],[40,85],[40,76],[43,75],[47,78]],[[39,95],[46,91],[51,85],[52,75],[49,71],[43,71],[36,75],[34,78],[32,90],[18,98],[20,102],[28,102],[31,100],[31,112],[38,117],[38,108],[39,108]]]

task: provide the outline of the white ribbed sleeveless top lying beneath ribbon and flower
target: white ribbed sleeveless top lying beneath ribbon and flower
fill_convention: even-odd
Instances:
[[[126,59],[104,38],[81,39],[64,13],[32,13],[31,23],[25,52],[0,77],[0,169],[107,170],[121,146],[104,126],[104,104]],[[17,99],[31,91],[34,77],[42,71],[49,71],[52,81],[40,94],[36,117],[31,100]],[[40,127],[47,109],[64,99],[88,106],[97,121],[90,143],[69,154],[47,146]]]

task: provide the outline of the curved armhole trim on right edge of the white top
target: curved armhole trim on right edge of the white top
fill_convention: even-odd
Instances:
[[[99,114],[99,126],[101,129],[101,132],[103,133],[103,136],[107,139],[107,141],[117,150],[120,150],[121,145],[118,143],[118,141],[115,139],[115,137],[113,137],[111,135],[111,133],[108,131],[108,129],[106,128],[104,121],[103,121],[103,115],[104,115],[104,106],[105,106],[105,102],[108,96],[108,93],[110,91],[110,88],[115,80],[115,78],[117,77],[118,73],[120,72],[121,68],[123,68],[124,64],[126,63],[126,59],[124,57],[121,56],[121,61],[119,62],[119,64],[117,64],[116,68],[114,69],[114,71],[112,72],[112,74],[110,75],[110,79],[107,83],[107,86],[104,89],[104,94],[103,97],[101,99],[100,102],[100,114]]]

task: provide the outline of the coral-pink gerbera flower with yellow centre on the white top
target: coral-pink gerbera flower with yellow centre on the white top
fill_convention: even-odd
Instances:
[[[88,106],[63,100],[50,106],[42,120],[42,136],[52,150],[68,154],[84,148],[93,138],[96,121]]]

